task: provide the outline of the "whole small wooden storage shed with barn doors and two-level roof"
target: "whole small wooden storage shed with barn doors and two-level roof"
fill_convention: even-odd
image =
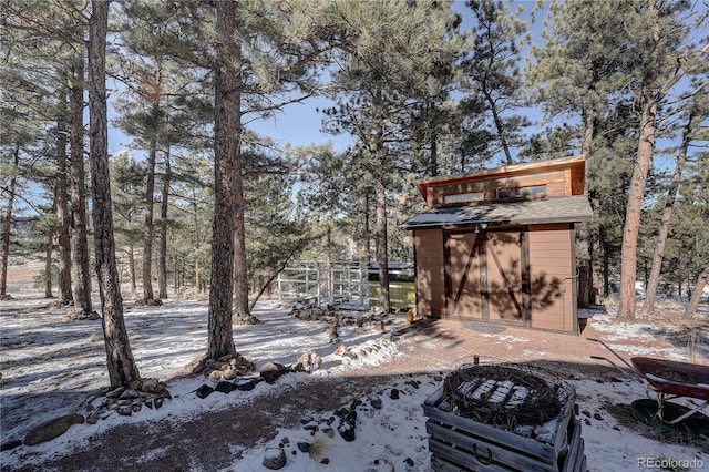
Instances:
[[[578,335],[575,224],[585,158],[422,179],[413,232],[419,315]]]

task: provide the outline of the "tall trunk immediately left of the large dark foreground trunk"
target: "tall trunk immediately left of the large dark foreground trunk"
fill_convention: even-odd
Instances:
[[[84,188],[84,58],[75,57],[70,65],[69,93],[71,123],[71,206],[73,235],[72,279],[74,306],[84,312],[93,310],[91,304],[91,270],[89,267],[89,237],[86,230],[86,191]]]

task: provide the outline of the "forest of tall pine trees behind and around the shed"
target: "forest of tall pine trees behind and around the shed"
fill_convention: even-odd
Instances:
[[[691,316],[709,270],[706,4],[508,4],[0,0],[0,296],[20,249],[47,254],[60,305],[92,311],[95,277],[111,383],[140,383],[122,287],[208,294],[203,365],[235,353],[234,319],[290,258],[377,261],[388,310],[415,179],[583,154],[580,306],[618,280],[634,317],[640,280],[647,309],[689,293]],[[249,129],[315,96],[349,148]],[[130,151],[109,155],[110,127]]]

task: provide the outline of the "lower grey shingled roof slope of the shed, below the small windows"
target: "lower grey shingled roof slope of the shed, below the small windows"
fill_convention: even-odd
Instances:
[[[421,229],[460,227],[480,223],[489,225],[576,223],[589,219],[592,214],[588,198],[576,195],[432,208],[413,215],[403,224],[403,227]]]

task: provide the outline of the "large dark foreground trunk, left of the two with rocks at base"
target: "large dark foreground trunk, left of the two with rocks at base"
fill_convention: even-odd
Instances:
[[[131,352],[123,299],[115,261],[111,176],[109,174],[109,121],[106,110],[106,30],[109,6],[105,0],[92,0],[89,41],[89,114],[91,135],[91,183],[93,189],[93,226],[96,273],[101,294],[103,338],[106,349],[109,380],[112,388],[140,388],[142,380]]]

